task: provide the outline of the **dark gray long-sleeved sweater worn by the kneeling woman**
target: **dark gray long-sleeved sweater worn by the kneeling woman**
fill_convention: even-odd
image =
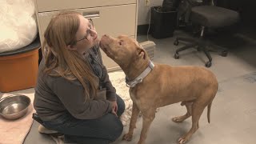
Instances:
[[[102,64],[99,47],[91,48],[85,59],[90,62],[101,87],[106,88],[106,99],[86,101],[84,89],[78,80],[69,81],[66,78],[42,74],[45,65],[42,59],[34,94],[34,109],[42,120],[54,120],[65,113],[70,113],[78,119],[93,119],[112,110],[110,101],[116,100],[116,90],[110,82],[106,67]]]

